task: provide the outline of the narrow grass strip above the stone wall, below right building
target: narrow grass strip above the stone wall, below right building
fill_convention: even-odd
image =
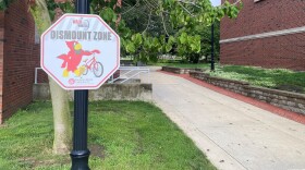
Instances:
[[[294,72],[286,69],[263,69],[258,66],[218,65],[210,72],[209,63],[157,63],[159,66],[199,68],[212,76],[248,82],[251,85],[305,93],[305,72]]]

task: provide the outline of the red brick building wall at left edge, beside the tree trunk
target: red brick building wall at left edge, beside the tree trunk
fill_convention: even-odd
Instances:
[[[35,33],[26,1],[0,11],[0,124],[33,100],[35,68],[39,66]]]

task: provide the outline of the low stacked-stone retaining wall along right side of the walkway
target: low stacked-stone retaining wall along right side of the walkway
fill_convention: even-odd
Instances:
[[[305,95],[285,90],[252,86],[248,83],[213,77],[203,72],[190,72],[192,77],[252,97],[279,108],[305,114]]]

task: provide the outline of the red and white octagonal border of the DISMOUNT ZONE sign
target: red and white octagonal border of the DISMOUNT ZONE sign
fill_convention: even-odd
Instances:
[[[117,47],[117,51],[118,51],[118,56],[117,56],[117,65],[114,66],[114,69],[112,69],[110,71],[109,74],[107,74],[105,76],[105,78],[101,80],[100,83],[98,83],[95,86],[65,86],[61,81],[59,81],[57,78],[57,76],[54,76],[52,74],[51,71],[49,71],[45,64],[44,64],[44,37],[46,36],[46,34],[48,34],[56,25],[58,25],[63,19],[68,17],[68,16],[76,16],[76,17],[97,17],[117,38],[117,41],[119,44],[119,46]],[[120,37],[119,35],[99,16],[99,15],[95,15],[95,14],[71,14],[71,13],[66,13],[64,15],[62,15],[56,23],[53,23],[46,32],[42,33],[41,37],[40,37],[40,66],[41,69],[49,75],[51,76],[62,88],[66,89],[66,90],[73,90],[73,89],[98,89],[119,68],[120,68]]]

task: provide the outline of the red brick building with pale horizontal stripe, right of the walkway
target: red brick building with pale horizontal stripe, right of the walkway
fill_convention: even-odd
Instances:
[[[242,1],[237,19],[221,21],[220,63],[305,71],[305,1]]]

